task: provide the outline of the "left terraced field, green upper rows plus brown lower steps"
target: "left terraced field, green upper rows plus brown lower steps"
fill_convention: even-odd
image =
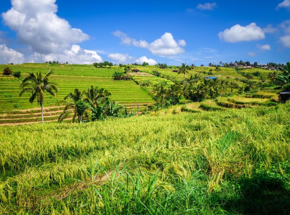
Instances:
[[[3,71],[5,67],[7,65],[0,65],[0,71]],[[94,68],[91,65],[31,63],[9,65],[9,67],[12,71],[21,71],[22,78],[30,72],[41,71],[45,74],[49,69],[55,72],[55,75],[51,76],[50,80],[59,84],[60,92],[57,97],[47,96],[45,98],[44,107],[46,108],[44,115],[46,121],[55,121],[58,118],[62,109],[62,107],[55,107],[55,103],[58,100],[73,92],[75,88],[87,90],[91,85],[107,89],[112,94],[112,100],[120,102],[128,107],[129,110],[135,108],[135,102],[140,104],[140,110],[154,102],[151,96],[133,80],[113,80],[111,76],[114,71],[123,70],[119,67]],[[29,93],[19,97],[20,83],[21,80],[17,80],[14,77],[0,76],[0,125],[40,121],[40,108],[36,108],[38,107],[37,102],[33,104],[28,102]]]

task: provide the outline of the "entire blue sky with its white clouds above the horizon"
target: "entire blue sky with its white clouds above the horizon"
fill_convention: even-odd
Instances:
[[[2,0],[0,63],[290,61],[290,0]]]

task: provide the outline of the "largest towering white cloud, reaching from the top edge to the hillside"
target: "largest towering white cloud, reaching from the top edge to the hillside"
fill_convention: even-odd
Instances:
[[[102,60],[96,51],[81,49],[76,45],[88,40],[89,36],[58,17],[55,1],[11,0],[11,9],[1,14],[4,24],[15,31],[19,41],[32,50],[29,60],[58,59],[81,64]]]

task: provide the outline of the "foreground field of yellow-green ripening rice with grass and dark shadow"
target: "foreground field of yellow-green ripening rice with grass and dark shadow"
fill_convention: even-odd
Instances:
[[[290,103],[169,110],[81,125],[3,127],[1,211],[289,214]]]

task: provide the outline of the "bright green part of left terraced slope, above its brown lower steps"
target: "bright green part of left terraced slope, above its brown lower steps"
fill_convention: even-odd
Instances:
[[[0,71],[7,65],[0,65]],[[48,64],[21,64],[8,65],[13,71],[21,71],[22,77],[28,75],[29,72],[36,73],[41,71],[45,74],[52,69],[56,74],[51,80],[60,86],[58,97],[47,96],[44,106],[51,106],[57,100],[63,99],[68,93],[75,88],[87,90],[90,85],[103,87],[112,93],[111,98],[121,103],[134,103],[135,100],[140,103],[153,102],[152,98],[144,92],[133,81],[115,81],[112,79],[114,71],[122,71],[119,67],[94,68],[91,65],[48,65]],[[29,93],[20,97],[19,94],[20,81],[15,78],[0,77],[0,110],[13,110],[15,104],[19,104],[18,109],[34,108],[37,103],[30,104],[28,102]]]

